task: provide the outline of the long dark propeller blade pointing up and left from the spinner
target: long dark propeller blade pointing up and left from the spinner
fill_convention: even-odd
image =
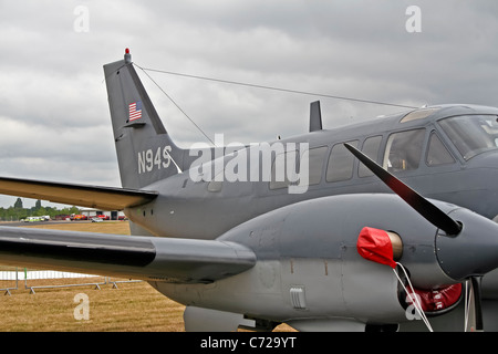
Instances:
[[[454,219],[448,217],[443,210],[437,208],[430,201],[422,197],[414,189],[402,183],[394,175],[378,166],[377,163],[364,155],[362,152],[344,144],[344,146],[365,165],[375,176],[377,176],[387,187],[390,187],[396,195],[405,200],[412,208],[414,208],[421,216],[435,227],[444,230],[447,235],[458,235],[461,226]]]

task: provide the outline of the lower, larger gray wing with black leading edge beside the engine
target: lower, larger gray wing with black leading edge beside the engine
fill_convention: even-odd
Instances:
[[[217,240],[0,227],[0,263],[175,283],[209,283],[252,268],[248,248]]]

